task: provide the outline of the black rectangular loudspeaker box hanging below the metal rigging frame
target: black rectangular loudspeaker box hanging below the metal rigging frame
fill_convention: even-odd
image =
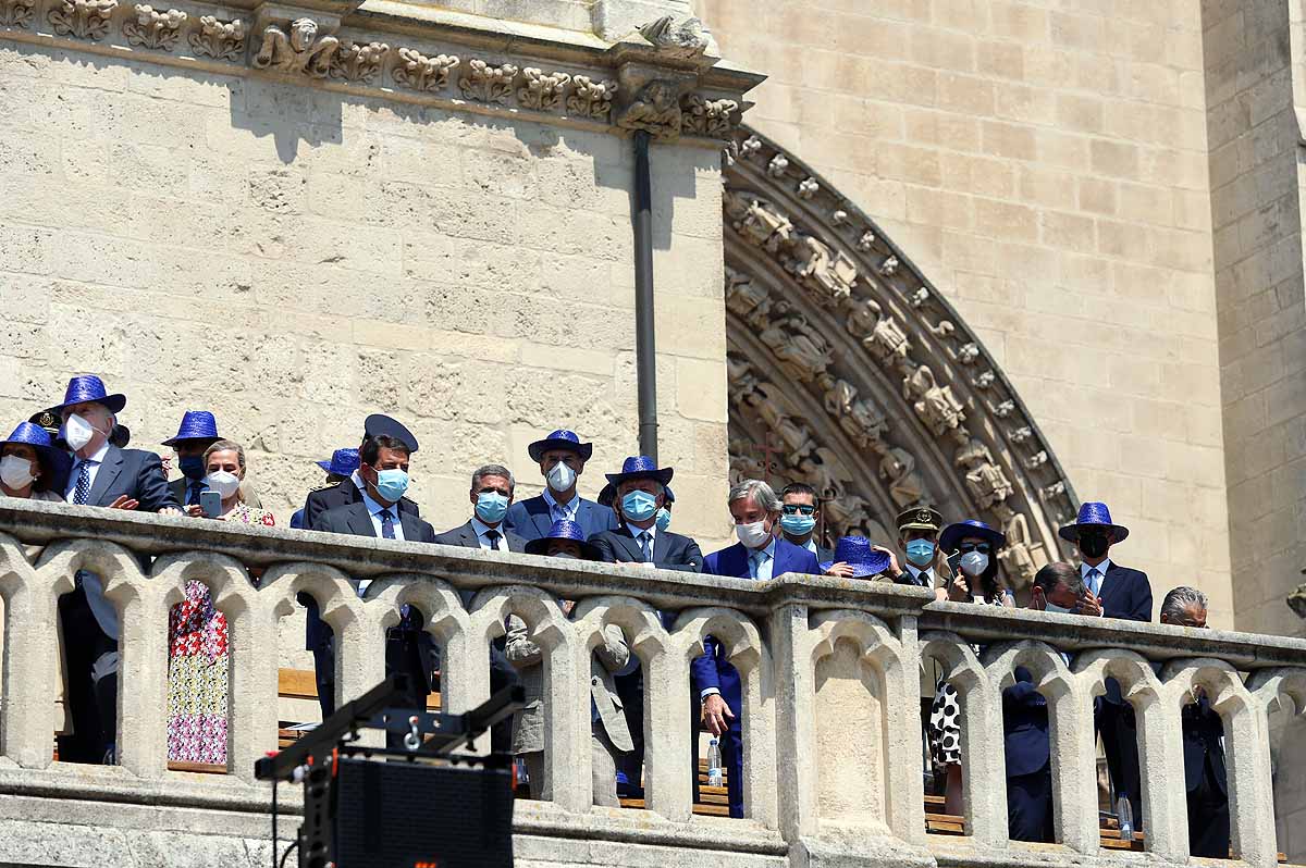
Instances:
[[[338,760],[340,868],[512,868],[512,770]]]

